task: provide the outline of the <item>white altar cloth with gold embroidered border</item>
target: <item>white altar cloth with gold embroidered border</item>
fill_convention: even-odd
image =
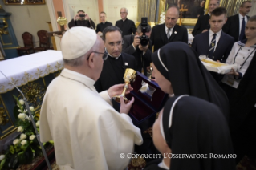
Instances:
[[[0,71],[17,87],[63,69],[61,51],[43,51],[31,55],[0,61]],[[14,86],[0,72],[0,94]]]

